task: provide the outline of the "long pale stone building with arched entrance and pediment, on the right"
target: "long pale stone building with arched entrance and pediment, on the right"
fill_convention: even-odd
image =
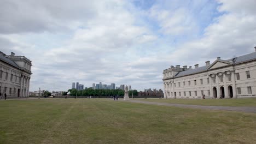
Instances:
[[[256,97],[255,52],[195,68],[176,65],[165,69],[165,98],[248,98]]]

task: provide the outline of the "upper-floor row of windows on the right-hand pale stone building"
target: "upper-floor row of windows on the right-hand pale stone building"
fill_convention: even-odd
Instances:
[[[231,75],[226,75],[226,77],[228,78],[228,81],[231,81]],[[251,75],[250,75],[250,71],[246,71],[246,77],[247,79],[250,79],[251,78]],[[213,83],[216,83],[216,77],[212,77],[212,80],[213,80]],[[219,76],[219,80],[220,82],[223,82],[223,75],[222,76]],[[236,80],[240,80],[240,74],[239,73],[236,73]],[[200,79],[200,83],[201,85],[203,85],[203,79]],[[210,79],[207,78],[207,84],[210,83]],[[186,82],[183,81],[183,86],[186,85]],[[188,81],[188,86],[191,85],[191,82]],[[194,85],[196,86],[197,85],[197,81],[194,80]],[[172,83],[171,83],[171,87],[172,87]],[[176,87],[176,83],[174,83],[174,87]],[[181,82],[178,82],[178,87],[181,87]]]

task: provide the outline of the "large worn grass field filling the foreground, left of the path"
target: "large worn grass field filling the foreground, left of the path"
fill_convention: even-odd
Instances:
[[[0,101],[0,143],[255,143],[256,115],[109,99]]]

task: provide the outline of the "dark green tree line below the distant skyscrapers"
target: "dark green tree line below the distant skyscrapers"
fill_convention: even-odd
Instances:
[[[124,96],[124,90],[122,89],[92,89],[92,88],[88,88],[88,89],[83,89],[83,90],[77,90],[75,88],[73,89],[68,89],[68,91],[70,92],[70,95],[72,96],[93,96],[93,97],[111,97],[112,95],[118,95],[120,97]],[[132,90],[129,91],[129,95],[131,96],[133,93],[133,96],[137,96],[138,95],[138,91],[137,90]],[[67,93],[63,93],[63,95],[66,95]]]

